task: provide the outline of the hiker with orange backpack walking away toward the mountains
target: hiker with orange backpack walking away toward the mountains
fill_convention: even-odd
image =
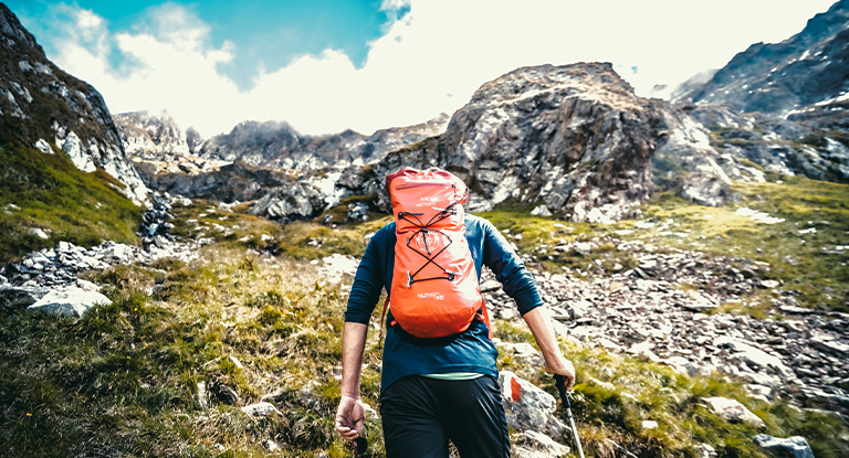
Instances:
[[[510,457],[497,350],[478,281],[482,265],[492,269],[531,328],[545,370],[572,388],[575,370],[560,354],[536,283],[490,222],[464,214],[469,192],[453,174],[405,168],[387,177],[386,188],[396,221],[371,237],[350,289],[336,430],[347,440],[363,434],[363,352],[385,288],[380,416],[387,457],[446,458],[449,439],[462,458]]]

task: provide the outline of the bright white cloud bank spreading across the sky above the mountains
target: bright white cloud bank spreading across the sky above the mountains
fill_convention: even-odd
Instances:
[[[279,71],[260,68],[249,92],[218,72],[238,50],[213,47],[209,26],[175,4],[153,9],[145,24],[118,34],[77,9],[52,57],[101,90],[114,113],[166,108],[205,136],[245,119],[287,120],[306,134],[370,134],[451,114],[483,83],[526,65],[612,62],[648,94],[654,84],[721,67],[752,43],[786,39],[829,3],[385,0],[387,10],[409,4],[410,11],[369,43],[361,68],[326,50]],[[133,72],[112,66],[115,47],[130,57]]]

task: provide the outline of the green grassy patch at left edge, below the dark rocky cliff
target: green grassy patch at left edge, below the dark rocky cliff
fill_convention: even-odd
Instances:
[[[101,170],[76,169],[63,152],[0,147],[0,265],[59,241],[82,246],[106,239],[137,243],[143,209],[114,185],[123,188]],[[50,238],[36,237],[32,228],[44,230]]]

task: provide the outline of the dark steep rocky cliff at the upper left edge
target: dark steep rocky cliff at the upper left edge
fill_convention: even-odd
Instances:
[[[101,94],[50,62],[44,50],[0,3],[0,139],[36,148],[45,155],[64,151],[81,170],[106,171],[124,184],[137,203],[147,189],[127,160],[118,131]]]

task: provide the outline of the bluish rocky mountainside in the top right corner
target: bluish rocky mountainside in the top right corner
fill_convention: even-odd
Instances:
[[[756,43],[735,55],[686,98],[741,111],[784,115],[849,90],[849,1],[840,0],[780,43]]]

